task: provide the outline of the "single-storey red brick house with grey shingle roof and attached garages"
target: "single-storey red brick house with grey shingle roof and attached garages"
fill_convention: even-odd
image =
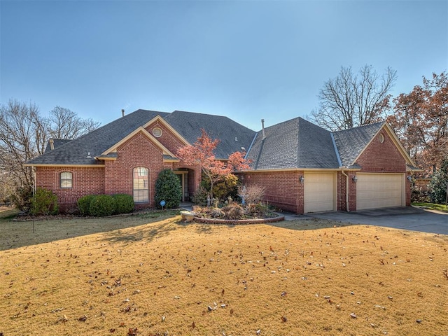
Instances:
[[[27,162],[36,187],[52,190],[61,209],[79,197],[127,193],[137,207],[154,206],[158,173],[172,169],[188,200],[200,186],[200,167],[188,167],[177,150],[204,129],[219,139],[216,158],[246,151],[244,183],[266,187],[265,199],[297,214],[356,211],[410,204],[407,176],[415,164],[391,127],[376,123],[329,132],[302,118],[254,132],[223,116],[137,110],[71,141],[50,139],[45,153]]]

